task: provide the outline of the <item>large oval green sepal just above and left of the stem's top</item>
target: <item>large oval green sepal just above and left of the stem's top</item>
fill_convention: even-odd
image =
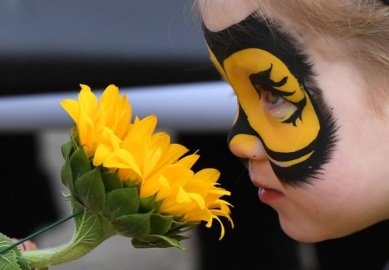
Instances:
[[[99,168],[94,168],[76,180],[74,189],[79,199],[95,213],[100,213],[105,204],[103,179]]]

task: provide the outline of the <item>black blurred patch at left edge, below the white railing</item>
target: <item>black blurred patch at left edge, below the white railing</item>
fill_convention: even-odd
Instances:
[[[36,144],[32,134],[2,134],[0,232],[24,238],[37,228],[56,221],[57,209],[49,179],[36,164]],[[41,228],[39,228],[41,229]]]

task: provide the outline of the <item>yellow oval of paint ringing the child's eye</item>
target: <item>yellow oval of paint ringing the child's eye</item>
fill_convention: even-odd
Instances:
[[[270,67],[273,68],[269,74],[269,81],[279,82],[287,77],[285,84],[274,87],[290,95],[282,98],[296,104],[306,99],[306,105],[295,111],[301,112],[301,119],[304,119],[304,122],[297,118],[296,125],[284,123],[267,112],[264,104],[267,101],[259,97],[249,77],[269,70]],[[225,59],[224,69],[251,127],[258,132],[268,149],[283,153],[295,152],[307,147],[317,138],[320,123],[312,102],[302,85],[277,57],[260,49],[246,49]]]

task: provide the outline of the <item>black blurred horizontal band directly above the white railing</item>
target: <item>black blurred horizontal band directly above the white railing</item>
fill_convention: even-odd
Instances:
[[[2,60],[0,74],[0,96],[79,91],[80,83],[104,89],[109,84],[123,88],[219,79],[210,63],[158,59],[150,62]]]

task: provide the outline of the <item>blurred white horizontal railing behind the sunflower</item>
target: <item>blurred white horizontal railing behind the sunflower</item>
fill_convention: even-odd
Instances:
[[[75,86],[73,92],[0,98],[0,132],[69,127],[72,120],[59,102],[76,99],[78,92]],[[223,82],[120,87],[120,92],[127,94],[134,115],[157,115],[159,127],[177,131],[228,130],[237,108],[231,87]]]

